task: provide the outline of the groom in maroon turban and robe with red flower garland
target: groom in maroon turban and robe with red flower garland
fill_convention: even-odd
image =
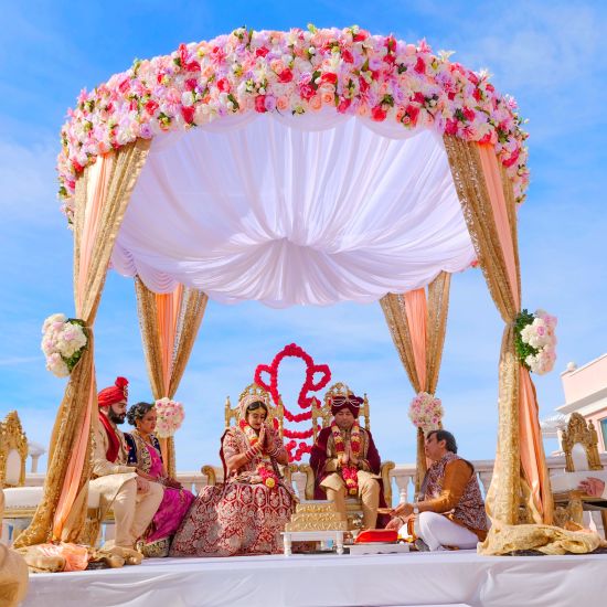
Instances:
[[[385,505],[380,478],[381,459],[371,433],[358,422],[362,398],[338,395],[331,403],[331,425],[320,430],[310,452],[315,499],[328,499],[345,520],[347,496],[362,502],[363,525],[375,529],[377,507]]]

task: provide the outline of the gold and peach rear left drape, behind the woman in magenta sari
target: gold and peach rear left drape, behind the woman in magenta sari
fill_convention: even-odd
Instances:
[[[190,359],[209,298],[202,291],[181,285],[172,294],[155,294],[139,277],[135,278],[135,291],[152,395],[156,400],[172,398]],[[160,443],[167,471],[174,477],[173,438]]]

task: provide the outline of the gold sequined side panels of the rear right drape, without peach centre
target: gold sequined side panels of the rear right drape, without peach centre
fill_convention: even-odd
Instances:
[[[382,309],[398,351],[403,366],[408,375],[413,390],[434,394],[438,383],[445,333],[447,329],[447,316],[449,309],[449,287],[451,275],[441,271],[429,285],[426,298],[426,356],[425,381],[422,385],[415,364],[414,348],[412,342],[412,328],[407,319],[406,296],[388,294],[381,299]],[[426,473],[426,457],[424,454],[424,433],[417,430],[417,466],[415,473],[415,492],[419,491],[422,480]]]

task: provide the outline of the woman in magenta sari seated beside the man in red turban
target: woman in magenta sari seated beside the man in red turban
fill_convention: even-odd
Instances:
[[[168,556],[171,536],[190,510],[194,494],[167,475],[160,452],[160,443],[152,434],[156,429],[156,409],[152,404],[132,405],[127,419],[135,429],[125,434],[128,445],[128,464],[136,466],[149,481],[164,486],[164,494],[139,547],[145,556]]]

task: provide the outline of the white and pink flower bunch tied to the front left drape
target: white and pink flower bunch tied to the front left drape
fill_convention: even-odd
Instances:
[[[51,315],[42,324],[41,348],[46,369],[57,377],[67,377],[88,343],[84,321],[65,315]]]

